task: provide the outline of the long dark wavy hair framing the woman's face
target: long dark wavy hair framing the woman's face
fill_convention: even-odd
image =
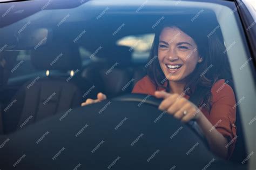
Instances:
[[[198,63],[194,71],[186,77],[186,85],[184,93],[191,96],[196,88],[207,87],[209,90],[201,104],[206,104],[208,111],[211,110],[211,87],[219,79],[228,80],[232,83],[230,65],[228,63],[226,48],[220,29],[209,34],[211,30],[202,28],[202,25],[190,23],[180,23],[174,21],[165,21],[158,25],[155,37],[153,40],[149,61],[153,61],[147,67],[147,76],[150,77],[152,83],[156,85],[156,90],[163,87],[167,92],[170,92],[169,81],[161,70],[158,59],[159,37],[164,28],[179,28],[190,36],[198,46],[199,56],[203,58],[203,62]],[[206,71],[207,70],[207,71]],[[167,80],[167,86],[164,86],[164,81]],[[198,106],[199,107],[199,106]]]

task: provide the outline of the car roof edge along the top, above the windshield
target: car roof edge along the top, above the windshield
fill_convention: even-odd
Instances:
[[[9,3],[6,3],[9,2]],[[1,17],[0,28],[4,26],[15,23],[23,18],[33,15],[42,10],[57,10],[57,9],[72,9],[77,8],[80,5],[85,3],[90,4],[90,8],[96,9],[100,6],[109,6],[113,8],[118,8],[120,11],[127,11],[127,9],[132,8],[134,6],[146,6],[153,5],[156,8],[164,8],[165,3],[173,3],[175,2],[178,6],[181,0],[177,1],[166,1],[166,0],[146,0],[146,1],[134,1],[134,0],[124,0],[124,1],[103,1],[103,0],[80,0],[80,1],[68,1],[68,0],[42,0],[42,1],[4,1],[0,0],[0,13],[5,13],[10,9],[12,12],[9,12],[5,17]],[[198,3],[214,3],[214,4],[223,4],[227,1],[225,0],[186,0],[184,2],[198,2]]]

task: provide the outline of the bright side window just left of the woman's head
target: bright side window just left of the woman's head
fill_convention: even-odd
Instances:
[[[133,62],[145,62],[150,55],[153,40],[153,33],[131,35],[119,39],[117,45],[130,47],[129,51],[132,52]]]

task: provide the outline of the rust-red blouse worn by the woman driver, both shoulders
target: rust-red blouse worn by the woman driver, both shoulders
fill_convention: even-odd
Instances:
[[[167,86],[167,81],[164,86]],[[140,79],[136,85],[133,87],[132,93],[142,93],[150,94],[154,96],[154,92],[157,87],[152,83],[148,76]],[[158,90],[164,90],[164,88],[159,87]],[[235,142],[237,139],[237,128],[235,126],[235,96],[232,87],[225,83],[224,79],[218,80],[211,88],[212,101],[211,101],[211,111],[208,112],[205,107],[201,108],[201,112],[213,125],[209,131],[216,128],[218,132],[223,134],[228,140],[228,157],[230,158]],[[185,95],[186,99],[190,97]]]

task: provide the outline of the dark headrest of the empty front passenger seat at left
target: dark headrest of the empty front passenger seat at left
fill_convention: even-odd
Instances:
[[[79,69],[82,64],[78,48],[76,46],[56,44],[32,50],[31,62],[35,69],[62,71]]]

